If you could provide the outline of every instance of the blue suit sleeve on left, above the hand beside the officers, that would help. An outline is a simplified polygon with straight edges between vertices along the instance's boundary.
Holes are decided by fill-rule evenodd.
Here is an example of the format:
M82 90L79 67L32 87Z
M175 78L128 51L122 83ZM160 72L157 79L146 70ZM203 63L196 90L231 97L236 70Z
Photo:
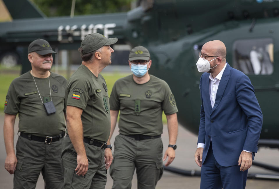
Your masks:
M202 76L200 77L200 85L199 85L200 100L202 101L202 105L200 106L200 127L199 127L198 143L205 143L205 111L203 109L203 99L202 99Z

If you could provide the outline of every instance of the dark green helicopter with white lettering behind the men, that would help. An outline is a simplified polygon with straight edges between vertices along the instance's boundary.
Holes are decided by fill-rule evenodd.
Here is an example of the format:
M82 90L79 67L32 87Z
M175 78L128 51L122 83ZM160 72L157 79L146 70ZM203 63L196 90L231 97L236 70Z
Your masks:
M0 57L15 57L25 72L27 46L34 39L46 39L54 49L77 49L92 32L118 37L118 44L143 45L152 57L150 73L170 85L179 123L195 134L201 104L198 52L205 42L221 40L227 62L255 88L264 116L259 145L279 148L278 0L140 0L127 13L74 18L46 18L29 0L17 7L3 1L14 20L0 23Z

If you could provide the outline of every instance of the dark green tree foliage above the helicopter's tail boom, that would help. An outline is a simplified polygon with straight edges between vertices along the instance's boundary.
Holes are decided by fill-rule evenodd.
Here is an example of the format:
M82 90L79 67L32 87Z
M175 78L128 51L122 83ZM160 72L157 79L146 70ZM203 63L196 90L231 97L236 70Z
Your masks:
M70 0L31 0L48 17L70 16ZM135 0L76 0L74 15L127 12Z

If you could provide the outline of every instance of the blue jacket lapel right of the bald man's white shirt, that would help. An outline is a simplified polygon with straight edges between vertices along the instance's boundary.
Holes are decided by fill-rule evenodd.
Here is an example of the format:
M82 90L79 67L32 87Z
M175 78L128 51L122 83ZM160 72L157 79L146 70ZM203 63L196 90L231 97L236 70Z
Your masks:
M231 70L231 67L230 65L227 63L227 66L223 72L223 75L222 75L222 78L220 80L220 83L218 85L218 90L217 90L217 93L216 93L216 99L215 99L215 104L214 104L214 107L212 108L211 110L211 114L212 112L217 108L217 106L219 105L220 101L221 101L221 98L224 94L224 91L227 87L227 84L228 84L228 81L230 79L230 70ZM210 101L210 99L209 99Z

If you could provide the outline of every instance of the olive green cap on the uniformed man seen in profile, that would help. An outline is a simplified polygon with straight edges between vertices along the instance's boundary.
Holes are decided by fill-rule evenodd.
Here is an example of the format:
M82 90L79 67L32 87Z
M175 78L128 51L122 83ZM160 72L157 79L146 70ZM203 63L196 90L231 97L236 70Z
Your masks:
M96 51L102 46L112 45L118 41L116 37L114 38L106 38L104 35L99 33L90 33L84 37L81 42L81 48L85 54Z

